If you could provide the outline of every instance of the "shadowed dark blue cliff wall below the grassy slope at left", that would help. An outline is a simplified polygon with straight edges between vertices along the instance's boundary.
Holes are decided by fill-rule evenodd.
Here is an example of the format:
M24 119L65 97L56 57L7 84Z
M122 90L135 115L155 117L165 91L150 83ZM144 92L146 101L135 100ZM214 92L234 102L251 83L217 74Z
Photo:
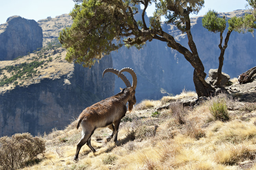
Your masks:
M102 79L104 69L112 67L111 56L91 69L69 65L66 74L40 74L33 78L41 79L38 83L17 86L0 95L0 136L62 129L83 109L113 95L114 75L106 74Z

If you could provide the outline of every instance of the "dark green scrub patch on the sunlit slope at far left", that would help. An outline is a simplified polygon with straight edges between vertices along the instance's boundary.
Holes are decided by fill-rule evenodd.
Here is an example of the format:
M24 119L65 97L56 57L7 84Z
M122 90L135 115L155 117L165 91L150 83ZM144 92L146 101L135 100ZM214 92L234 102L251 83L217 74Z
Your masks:
M5 75L4 77L0 80L0 86L4 86L6 84L13 83L19 78L22 78L23 76L26 78L32 77L37 71L34 70L34 68L38 68L44 63L44 61L38 62L38 61L33 61L31 63L21 63L16 66L6 66L1 70L7 70L8 72L13 73L12 77L7 78ZM17 84L16 84L17 85Z

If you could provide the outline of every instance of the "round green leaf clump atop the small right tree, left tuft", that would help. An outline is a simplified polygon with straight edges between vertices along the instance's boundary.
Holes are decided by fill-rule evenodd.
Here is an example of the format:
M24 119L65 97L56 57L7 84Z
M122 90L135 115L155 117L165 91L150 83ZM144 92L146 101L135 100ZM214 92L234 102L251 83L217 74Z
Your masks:
M218 17L217 12L209 10L202 19L203 27L208 31L217 33L226 29L226 17Z

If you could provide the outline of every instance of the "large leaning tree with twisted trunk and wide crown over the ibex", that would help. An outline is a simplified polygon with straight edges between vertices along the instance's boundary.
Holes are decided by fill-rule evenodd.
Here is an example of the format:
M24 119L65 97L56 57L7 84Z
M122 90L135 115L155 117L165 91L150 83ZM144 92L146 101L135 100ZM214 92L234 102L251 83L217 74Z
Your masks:
M60 43L67 48L68 62L91 67L96 60L124 45L140 49L146 41L157 39L183 54L194 67L193 81L199 97L208 97L215 92L215 87L204 80L206 73L190 31L189 14L197 14L203 7L204 0L74 1L79 3L70 12L73 24L59 34ZM156 4L156 11L150 17L150 23L146 23L145 11L153 2ZM142 20L136 20L134 15L139 15L136 6L140 4L144 5ZM172 23L187 34L189 49L162 30L161 16L166 18L166 24Z

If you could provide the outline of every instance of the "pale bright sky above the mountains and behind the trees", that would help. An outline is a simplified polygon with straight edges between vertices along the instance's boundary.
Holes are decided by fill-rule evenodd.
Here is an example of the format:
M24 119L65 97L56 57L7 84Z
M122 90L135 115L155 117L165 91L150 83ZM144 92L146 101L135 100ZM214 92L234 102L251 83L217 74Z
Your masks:
M217 12L231 12L245 9L245 0L204 0L204 6L198 16L204 15L209 9ZM5 23L7 18L19 15L26 19L38 21L47 17L56 17L68 14L73 6L72 0L1 0L0 24ZM152 16L154 5L147 8L147 15ZM195 15L192 15L195 16Z

